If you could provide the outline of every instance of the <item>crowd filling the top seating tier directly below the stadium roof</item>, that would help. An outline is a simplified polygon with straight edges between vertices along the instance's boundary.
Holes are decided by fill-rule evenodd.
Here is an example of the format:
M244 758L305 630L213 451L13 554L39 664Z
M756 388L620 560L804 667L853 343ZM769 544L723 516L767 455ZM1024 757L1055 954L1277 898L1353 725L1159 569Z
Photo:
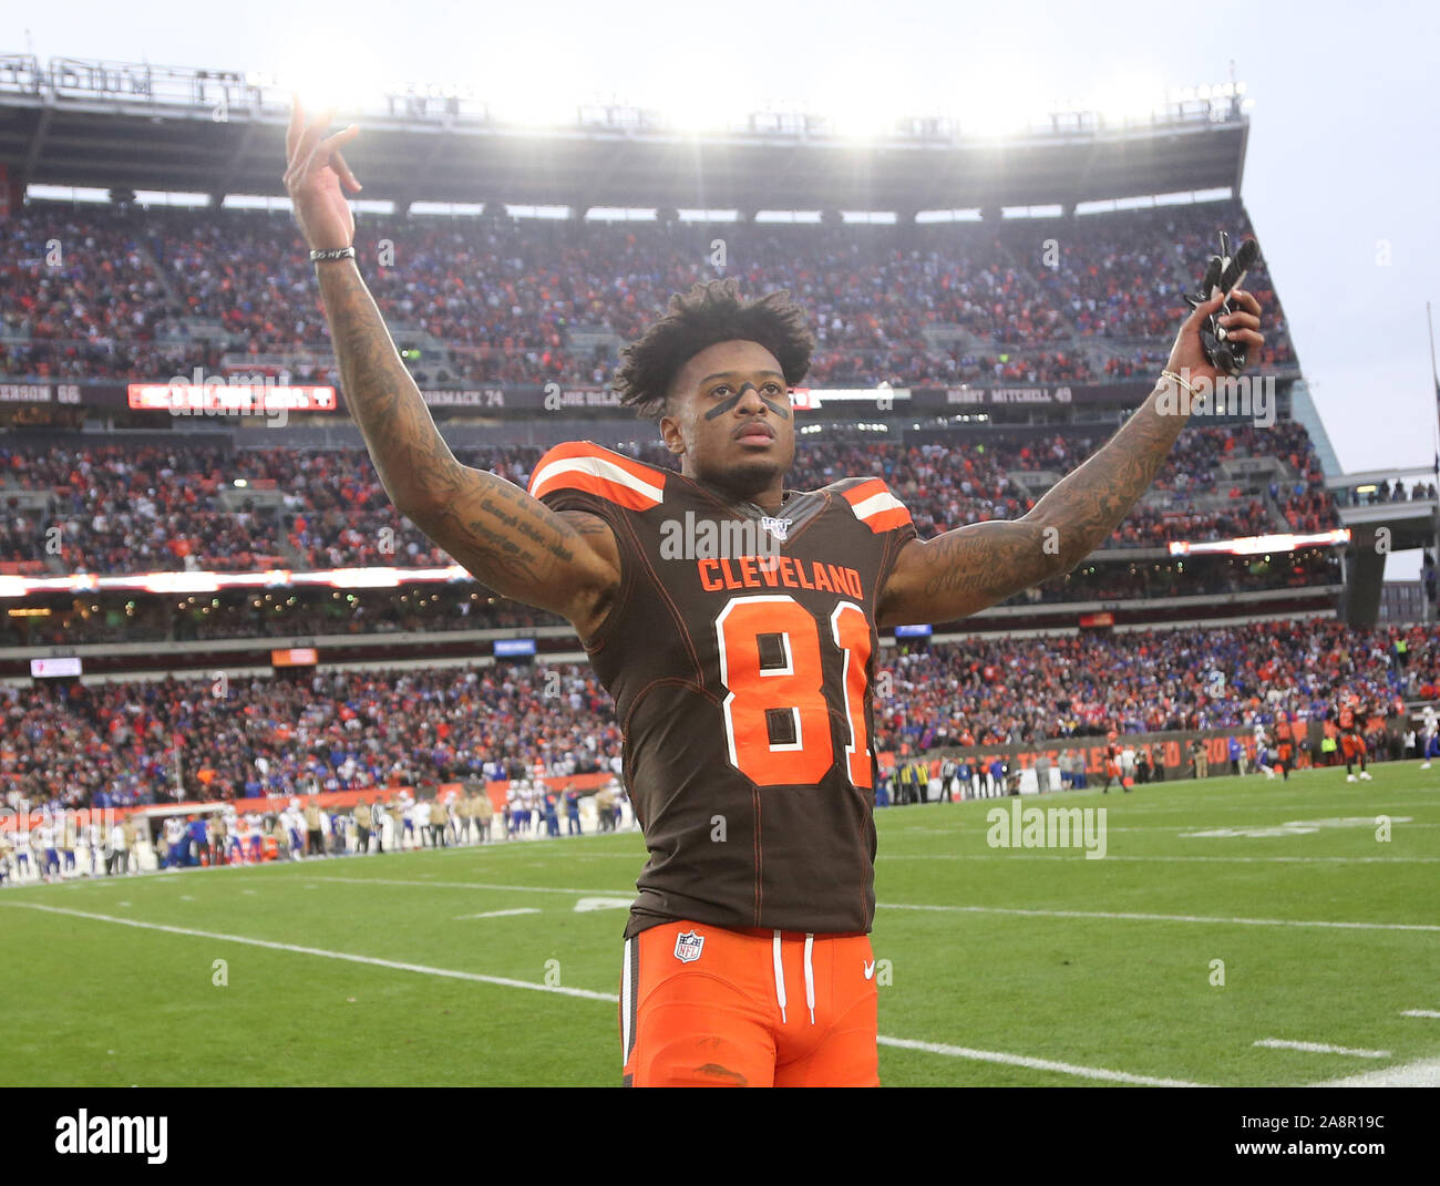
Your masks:
M1215 230L1248 226L1234 202L998 225L363 217L356 246L390 325L426 343L412 366L429 383L605 384L613 348L575 331L631 341L717 273L804 305L812 384L1077 383L1152 374ZM6 236L7 376L164 381L229 354L336 380L288 213L32 203ZM1247 286L1266 305L1257 368L1292 364L1263 262Z

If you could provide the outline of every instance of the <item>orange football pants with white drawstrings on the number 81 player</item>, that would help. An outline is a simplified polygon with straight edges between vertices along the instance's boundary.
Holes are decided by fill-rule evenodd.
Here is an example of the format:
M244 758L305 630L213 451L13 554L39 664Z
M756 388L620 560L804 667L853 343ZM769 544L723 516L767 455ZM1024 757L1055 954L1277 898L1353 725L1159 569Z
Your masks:
M664 923L625 940L625 1087L878 1087L865 934Z

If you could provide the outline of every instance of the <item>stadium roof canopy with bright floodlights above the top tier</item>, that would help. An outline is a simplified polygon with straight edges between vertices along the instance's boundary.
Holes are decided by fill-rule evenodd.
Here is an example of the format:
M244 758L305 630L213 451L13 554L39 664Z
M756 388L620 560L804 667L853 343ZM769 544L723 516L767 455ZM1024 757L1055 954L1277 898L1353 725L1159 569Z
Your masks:
M0 58L0 166L29 184L284 193L288 94L238 72ZM351 117L346 117L350 119ZM1143 122L1093 112L1002 140L913 119L857 142L814 117L752 117L704 135L631 108L579 108L521 128L445 96L390 95L347 160L367 199L739 210L1071 207L1230 189L1244 170L1238 98L1174 104Z

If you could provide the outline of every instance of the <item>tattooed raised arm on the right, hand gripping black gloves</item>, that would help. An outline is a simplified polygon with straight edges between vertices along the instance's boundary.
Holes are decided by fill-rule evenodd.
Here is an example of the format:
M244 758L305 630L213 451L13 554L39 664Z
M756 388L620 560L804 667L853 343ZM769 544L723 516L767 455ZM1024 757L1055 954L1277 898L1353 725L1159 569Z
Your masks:
M1234 295L1244 312L1221 320L1237 340L1259 348L1260 304L1240 289ZM1200 324L1221 299L1200 305L1175 338L1166 370L1192 386L1218 377L1201 350ZM881 590L877 623L953 622L1074 569L1109 538L1165 463L1189 419L1169 410L1176 391L1172 380L1161 380L1123 427L1024 518L906 544Z

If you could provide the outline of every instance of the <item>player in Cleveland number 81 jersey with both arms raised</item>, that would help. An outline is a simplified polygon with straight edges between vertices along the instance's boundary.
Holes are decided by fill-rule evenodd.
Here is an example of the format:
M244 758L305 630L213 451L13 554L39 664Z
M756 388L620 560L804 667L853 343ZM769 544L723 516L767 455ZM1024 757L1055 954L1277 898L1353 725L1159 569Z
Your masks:
M354 255L343 148L359 128L325 137L328 122L295 102L285 183L376 471L487 587L575 625L625 725L651 859L624 934L622 1081L877 1084L878 630L953 622L1074 569L1164 465L1181 387L1218 379L1205 318L1230 296L1228 340L1259 348L1259 302L1200 301L1149 399L1024 518L920 540L880 478L786 488L791 390L815 344L804 312L780 292L746 302L733 279L696 285L625 351L618 383L678 469L579 440L526 491L462 465L436 430Z

